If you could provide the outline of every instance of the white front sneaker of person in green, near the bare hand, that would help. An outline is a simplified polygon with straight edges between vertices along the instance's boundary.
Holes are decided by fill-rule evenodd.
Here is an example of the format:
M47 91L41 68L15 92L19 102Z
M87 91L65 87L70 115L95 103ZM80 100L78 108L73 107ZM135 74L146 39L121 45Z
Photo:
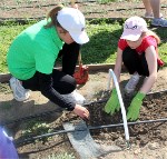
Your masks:
M68 98L69 100L73 100L78 105L84 105L86 99L84 98L84 96L81 96L79 92L77 92L76 90L72 91L71 93L68 95L62 95L65 98Z

